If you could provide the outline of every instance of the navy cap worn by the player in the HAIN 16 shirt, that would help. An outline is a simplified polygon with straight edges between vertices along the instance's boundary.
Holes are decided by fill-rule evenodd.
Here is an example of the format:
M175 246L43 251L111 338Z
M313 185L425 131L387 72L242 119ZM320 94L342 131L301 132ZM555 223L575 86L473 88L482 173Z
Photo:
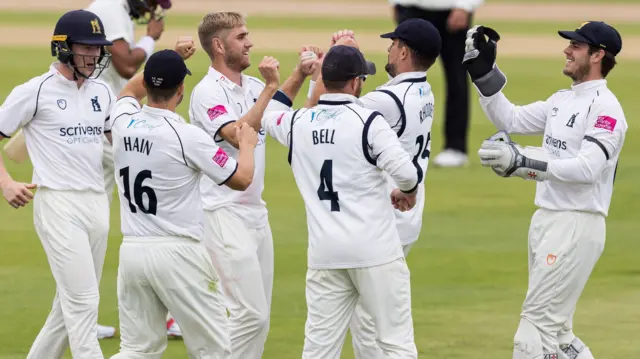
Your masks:
M178 87L191 71L174 50L160 50L149 57L144 67L144 82L158 89Z

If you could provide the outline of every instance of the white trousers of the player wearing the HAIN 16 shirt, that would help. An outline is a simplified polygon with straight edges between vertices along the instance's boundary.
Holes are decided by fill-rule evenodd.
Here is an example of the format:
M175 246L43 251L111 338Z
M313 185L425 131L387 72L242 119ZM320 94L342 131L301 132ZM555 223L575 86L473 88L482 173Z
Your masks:
M225 299L206 248L177 237L124 237L118 265L120 353L156 359L167 347L170 310L188 357L231 357Z

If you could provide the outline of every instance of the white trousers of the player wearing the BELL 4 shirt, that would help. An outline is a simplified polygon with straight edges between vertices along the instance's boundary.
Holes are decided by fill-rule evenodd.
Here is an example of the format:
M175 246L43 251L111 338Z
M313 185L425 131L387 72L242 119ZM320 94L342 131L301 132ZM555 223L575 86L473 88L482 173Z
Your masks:
M339 359L356 303L374 322L377 358L417 358L404 258L366 268L308 269L303 359Z

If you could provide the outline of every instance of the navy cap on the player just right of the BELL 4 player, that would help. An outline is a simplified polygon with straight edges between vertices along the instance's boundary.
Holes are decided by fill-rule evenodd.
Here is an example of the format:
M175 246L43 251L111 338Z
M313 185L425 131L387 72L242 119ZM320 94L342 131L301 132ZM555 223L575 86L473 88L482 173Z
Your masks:
M427 20L412 18L401 22L393 32L380 35L383 39L400 39L421 56L436 58L442 50L440 31Z

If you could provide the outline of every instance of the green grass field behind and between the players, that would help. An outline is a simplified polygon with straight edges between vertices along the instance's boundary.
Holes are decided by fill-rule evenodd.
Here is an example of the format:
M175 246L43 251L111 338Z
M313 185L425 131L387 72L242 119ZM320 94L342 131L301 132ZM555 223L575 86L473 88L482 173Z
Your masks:
M302 25L302 24L301 24ZM553 33L563 24L553 24ZM342 26L341 26L342 27ZM374 56L382 68L386 56ZM0 99L11 89L47 71L53 58L48 45L40 48L2 48ZM500 59L509 77L505 90L516 103L544 99L569 86L561 74L564 59ZM254 64L265 54L253 53ZM273 55L273 54L269 54ZM290 69L295 54L276 54L281 68ZM198 53L189 61L194 76L189 89L207 70ZM621 101L630 128L620 158L603 257L578 304L575 331L598 358L640 358L640 242L637 240L640 190L640 111L635 93L640 62L624 61L609 78ZM250 74L257 74L252 67ZM285 71L283 77L288 75ZM434 86L436 121L432 153L442 146L443 81L440 64L429 79ZM383 83L378 74L367 90ZM189 90L190 91L190 90ZM306 86L296 104L303 102ZM476 151L495 132L472 94L473 120L469 138L471 163L464 169L431 167L426 176L427 202L420 240L408 262L412 271L415 339L422 358L510 358L512 338L527 288L527 230L535 211L535 184L503 179L479 165ZM186 104L179 112L186 116ZM522 144L540 143L539 137L516 137ZM264 358L300 357L306 305L306 222L301 197L286 161L286 149L269 141L264 198L270 211L275 246L272 321ZM30 165L8 163L16 180L30 181ZM118 201L115 200L115 204ZM101 284L100 323L117 325L116 271L121 241L119 211L112 209L111 235ZM50 310L55 284L33 229L32 206L14 210L0 203L0 359L24 358ZM119 339L101 342L106 357L117 352ZM67 358L71 356L68 355ZM171 341L165 358L184 358L182 341ZM343 358L353 358L350 342Z

